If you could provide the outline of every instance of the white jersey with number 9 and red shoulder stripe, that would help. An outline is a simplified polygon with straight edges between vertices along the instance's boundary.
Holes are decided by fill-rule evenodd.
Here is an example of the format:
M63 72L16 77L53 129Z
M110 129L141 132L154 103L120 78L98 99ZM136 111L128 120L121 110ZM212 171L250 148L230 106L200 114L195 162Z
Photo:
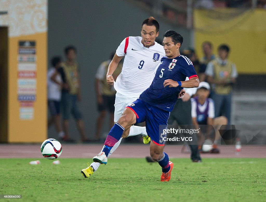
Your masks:
M125 56L122 72L114 82L115 90L127 97L139 97L154 78L154 71L165 55L163 46L155 42L149 48L141 43L142 37L127 37L116 50Z

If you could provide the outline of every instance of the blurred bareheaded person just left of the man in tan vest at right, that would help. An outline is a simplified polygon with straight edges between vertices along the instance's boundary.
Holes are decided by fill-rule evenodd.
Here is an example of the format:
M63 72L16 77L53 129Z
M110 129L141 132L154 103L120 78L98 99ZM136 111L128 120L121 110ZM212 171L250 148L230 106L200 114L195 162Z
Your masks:
M213 44L209 41L205 41L202 43L202 52L204 56L200 59L200 70L201 72L205 72L207 64L216 58L213 54ZM199 76L200 82L206 80L206 74L203 73Z

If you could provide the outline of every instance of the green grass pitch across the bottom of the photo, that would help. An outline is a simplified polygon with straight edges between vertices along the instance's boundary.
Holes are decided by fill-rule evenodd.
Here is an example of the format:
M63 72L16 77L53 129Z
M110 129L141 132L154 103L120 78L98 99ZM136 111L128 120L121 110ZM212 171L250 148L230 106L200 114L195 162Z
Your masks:
M86 159L59 160L0 159L0 194L22 194L0 201L266 201L265 159L171 159L169 182L145 159L110 158L90 178L80 173Z

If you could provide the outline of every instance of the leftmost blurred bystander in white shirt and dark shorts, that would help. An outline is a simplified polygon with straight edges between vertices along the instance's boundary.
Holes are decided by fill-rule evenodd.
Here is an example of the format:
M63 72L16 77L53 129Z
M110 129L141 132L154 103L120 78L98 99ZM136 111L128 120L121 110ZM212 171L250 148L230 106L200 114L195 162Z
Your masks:
M47 73L47 98L48 108L51 113L51 118L48 120L48 127L55 124L59 138L64 137L64 132L61 125L60 101L61 88L63 81L60 73L57 71L60 68L61 57L56 56L51 60L52 68Z

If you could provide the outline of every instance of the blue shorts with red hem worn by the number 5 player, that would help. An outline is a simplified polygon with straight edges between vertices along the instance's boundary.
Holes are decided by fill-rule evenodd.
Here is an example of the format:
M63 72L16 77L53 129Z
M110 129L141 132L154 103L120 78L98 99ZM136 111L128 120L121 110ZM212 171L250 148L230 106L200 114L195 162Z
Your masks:
M126 108L131 109L136 114L136 123L146 121L148 136L151 137L151 140L156 145L163 146L165 143L164 137L166 137L166 134L163 134L163 129L167 127L170 112L150 105L140 99L126 106Z

